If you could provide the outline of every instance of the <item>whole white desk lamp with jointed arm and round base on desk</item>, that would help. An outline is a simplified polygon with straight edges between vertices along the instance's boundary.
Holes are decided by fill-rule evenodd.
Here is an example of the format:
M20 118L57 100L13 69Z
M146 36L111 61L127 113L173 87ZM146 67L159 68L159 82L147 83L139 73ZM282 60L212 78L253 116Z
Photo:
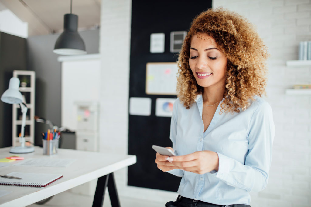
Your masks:
M11 153L22 154L34 152L35 148L33 146L25 146L25 122L26 122L26 113L27 106L23 103L23 97L19 91L20 80L18 78L11 78L9 83L9 89L7 89L1 96L1 101L9 104L19 104L21 107L21 112L23 114L21 121L21 136L19 137L19 142L21 146L13 146L10 149Z

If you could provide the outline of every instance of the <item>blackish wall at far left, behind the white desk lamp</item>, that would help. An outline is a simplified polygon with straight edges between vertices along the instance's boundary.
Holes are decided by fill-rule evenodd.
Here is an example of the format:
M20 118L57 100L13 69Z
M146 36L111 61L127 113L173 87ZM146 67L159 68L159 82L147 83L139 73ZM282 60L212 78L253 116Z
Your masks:
M0 32L0 96L9 87L13 70L26 69L26 39ZM0 147L12 146L12 104L0 101Z

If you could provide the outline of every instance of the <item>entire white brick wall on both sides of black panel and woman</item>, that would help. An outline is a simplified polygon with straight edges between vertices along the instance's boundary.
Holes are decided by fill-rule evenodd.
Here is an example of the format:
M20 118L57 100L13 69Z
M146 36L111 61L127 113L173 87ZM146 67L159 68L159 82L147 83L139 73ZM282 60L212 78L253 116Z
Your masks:
M252 207L311 206L311 96L285 95L297 83L311 83L311 67L290 68L299 41L311 40L310 0L213 0L255 24L272 54L267 101L276 126L267 188L251 192ZM205 8L202 8L202 10ZM100 151L128 151L128 90L131 0L102 0ZM126 187L127 171L116 173L121 196L166 201L176 194ZM143 181L142 181L143 182Z

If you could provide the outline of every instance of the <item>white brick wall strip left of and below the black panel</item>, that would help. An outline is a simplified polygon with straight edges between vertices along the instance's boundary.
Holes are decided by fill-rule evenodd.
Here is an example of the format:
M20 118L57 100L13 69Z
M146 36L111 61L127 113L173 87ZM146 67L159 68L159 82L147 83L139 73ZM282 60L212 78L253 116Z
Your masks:
M100 152L128 153L131 9L131 0L101 2ZM115 178L120 196L162 203L177 197L173 192L128 187L127 169L116 172Z

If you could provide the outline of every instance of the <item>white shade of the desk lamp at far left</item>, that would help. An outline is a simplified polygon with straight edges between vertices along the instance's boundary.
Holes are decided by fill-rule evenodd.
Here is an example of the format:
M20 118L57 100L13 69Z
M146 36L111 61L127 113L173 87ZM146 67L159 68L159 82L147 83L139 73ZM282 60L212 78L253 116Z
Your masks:
M19 91L20 80L16 77L10 79L9 89L1 96L1 101L9 104L19 104L23 102L23 97Z

